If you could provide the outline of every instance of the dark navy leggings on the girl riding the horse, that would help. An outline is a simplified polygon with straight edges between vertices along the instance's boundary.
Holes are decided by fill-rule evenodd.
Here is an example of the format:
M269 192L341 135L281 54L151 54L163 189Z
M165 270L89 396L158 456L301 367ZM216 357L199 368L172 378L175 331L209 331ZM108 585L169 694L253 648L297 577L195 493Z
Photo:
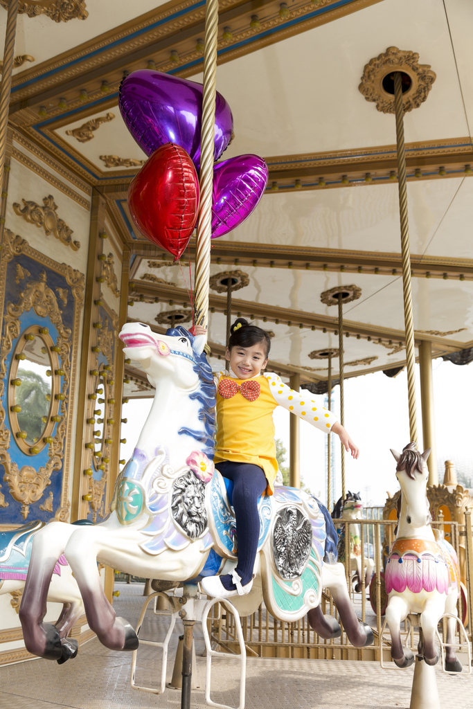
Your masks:
M258 498L267 488L267 480L259 465L225 460L217 463L216 468L224 478L233 480L233 509L238 537L238 564L235 571L241 576L242 586L245 586L252 579L255 566L260 538Z

